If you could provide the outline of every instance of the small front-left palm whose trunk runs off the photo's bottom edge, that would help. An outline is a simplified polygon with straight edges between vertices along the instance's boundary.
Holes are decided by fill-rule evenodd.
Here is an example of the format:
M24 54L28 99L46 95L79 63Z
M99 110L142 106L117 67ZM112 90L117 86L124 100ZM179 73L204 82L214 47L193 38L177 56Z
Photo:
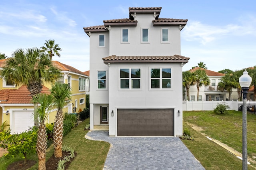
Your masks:
M53 97L45 93L40 93L32 97L32 102L40 105L37 108L39 117L39 127L37 132L36 152L38 155L38 170L46 170L46 147L47 134L44 122L48 117Z

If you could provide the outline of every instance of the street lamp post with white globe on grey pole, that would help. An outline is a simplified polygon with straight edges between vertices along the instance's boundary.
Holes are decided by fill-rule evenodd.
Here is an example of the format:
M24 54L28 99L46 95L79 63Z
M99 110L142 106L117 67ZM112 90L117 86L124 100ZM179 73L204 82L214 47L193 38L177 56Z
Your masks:
M249 90L249 87L252 82L252 77L248 75L248 72L245 70L243 75L239 77L239 84L242 87L243 93L243 170L247 170L247 107L246 107L246 96Z

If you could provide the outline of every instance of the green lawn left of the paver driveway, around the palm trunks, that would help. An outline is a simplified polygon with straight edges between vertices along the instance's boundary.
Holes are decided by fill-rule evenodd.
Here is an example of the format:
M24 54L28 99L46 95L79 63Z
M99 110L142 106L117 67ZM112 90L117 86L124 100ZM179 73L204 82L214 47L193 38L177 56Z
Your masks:
M102 170L104 167L110 144L104 141L87 140L84 138L89 131L84 130L85 125L88 123L89 119L86 119L63 138L62 144L71 146L77 153L77 156L68 168L69 170ZM53 153L54 148L51 145L46 150L46 159L50 158ZM38 162L37 154L30 154L28 159ZM4 157L1 157L0 170L6 170L9 164L18 160L22 160L22 158L4 159ZM36 169L38 169L38 163L30 168L30 170Z

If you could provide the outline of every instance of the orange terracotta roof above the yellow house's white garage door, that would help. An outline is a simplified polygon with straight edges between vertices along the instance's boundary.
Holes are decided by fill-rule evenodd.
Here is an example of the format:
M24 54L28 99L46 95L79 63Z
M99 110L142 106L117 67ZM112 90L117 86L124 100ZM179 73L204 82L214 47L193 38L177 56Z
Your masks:
M42 93L50 94L50 89L43 86ZM31 95L25 85L22 85L19 89L4 89L0 91L0 101L8 104L20 104L20 103L31 103Z

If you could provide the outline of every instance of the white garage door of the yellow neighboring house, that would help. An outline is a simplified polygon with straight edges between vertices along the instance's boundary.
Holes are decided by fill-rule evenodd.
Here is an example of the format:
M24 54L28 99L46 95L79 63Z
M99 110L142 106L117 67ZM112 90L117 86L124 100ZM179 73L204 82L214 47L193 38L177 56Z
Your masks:
M14 111L14 133L24 132L34 126L33 111Z

